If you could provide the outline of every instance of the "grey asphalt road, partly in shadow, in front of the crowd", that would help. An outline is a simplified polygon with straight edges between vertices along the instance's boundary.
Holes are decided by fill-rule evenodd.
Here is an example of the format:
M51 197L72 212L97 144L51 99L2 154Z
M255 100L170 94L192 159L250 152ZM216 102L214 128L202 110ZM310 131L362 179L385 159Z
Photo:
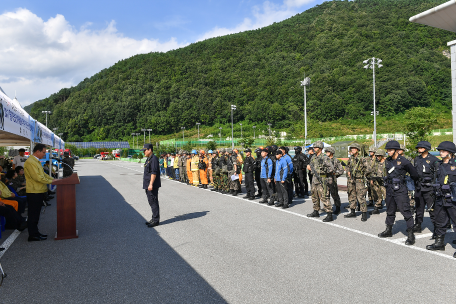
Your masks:
M425 250L426 229L405 246L380 239L385 214L309 219L310 198L289 209L162 179L161 224L151 217L142 165L80 160L79 238L27 242L1 257L1 303L453 303L456 259ZM347 197L341 192L342 203ZM55 201L40 230L56 231ZM429 219L426 225L430 227ZM7 235L6 235L7 236ZM5 240L5 236L2 241Z

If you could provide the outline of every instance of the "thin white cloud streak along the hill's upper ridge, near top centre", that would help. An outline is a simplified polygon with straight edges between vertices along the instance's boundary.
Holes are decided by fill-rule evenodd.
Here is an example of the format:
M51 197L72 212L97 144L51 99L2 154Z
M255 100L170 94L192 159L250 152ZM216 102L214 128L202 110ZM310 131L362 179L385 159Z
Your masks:
M282 20L290 18L293 15L296 15L299 12L296 10L296 8L311 2L315 2L315 0L284 0L283 5L277 5L269 1L265 1L261 6L254 6L252 8L252 19L245 18L240 24L236 25L233 28L215 27L212 30L201 35L198 41L228 34L255 30L271 25L274 22L280 22Z

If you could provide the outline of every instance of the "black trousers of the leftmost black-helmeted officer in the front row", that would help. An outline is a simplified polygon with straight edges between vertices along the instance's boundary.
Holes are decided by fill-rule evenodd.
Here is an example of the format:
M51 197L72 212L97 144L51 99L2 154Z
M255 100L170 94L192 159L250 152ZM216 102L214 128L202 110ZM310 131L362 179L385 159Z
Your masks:
M390 185L386 187L386 221L387 225L393 226L396 220L396 210L399 209L407 228L413 228L413 215L410 211L410 201L408 198L407 188L402 185L396 192Z

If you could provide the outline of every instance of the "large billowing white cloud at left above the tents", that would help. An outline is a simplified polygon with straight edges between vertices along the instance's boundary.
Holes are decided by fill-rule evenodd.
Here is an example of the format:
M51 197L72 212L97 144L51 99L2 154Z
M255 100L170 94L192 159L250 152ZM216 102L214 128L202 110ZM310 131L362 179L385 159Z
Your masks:
M24 106L120 59L186 45L174 38L159 42L124 37L115 22L99 31L89 26L77 30L62 15L44 21L27 9L0 15L0 86L10 97L17 91Z

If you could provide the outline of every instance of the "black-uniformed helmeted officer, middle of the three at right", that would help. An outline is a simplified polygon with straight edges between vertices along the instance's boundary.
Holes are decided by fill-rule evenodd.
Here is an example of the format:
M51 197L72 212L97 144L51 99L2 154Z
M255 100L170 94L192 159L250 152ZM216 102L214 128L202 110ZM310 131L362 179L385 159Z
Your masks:
M434 183L435 170L439 159L434 155L429 154L429 150L431 150L430 142L420 141L415 148L418 149L418 153L420 153L420 155L415 158L415 168L420 179L415 185L416 216L413 231L421 233L421 223L424 218L425 206L427 205L427 207L430 208L435 200L432 184ZM435 230L434 213L430 211L429 216Z

